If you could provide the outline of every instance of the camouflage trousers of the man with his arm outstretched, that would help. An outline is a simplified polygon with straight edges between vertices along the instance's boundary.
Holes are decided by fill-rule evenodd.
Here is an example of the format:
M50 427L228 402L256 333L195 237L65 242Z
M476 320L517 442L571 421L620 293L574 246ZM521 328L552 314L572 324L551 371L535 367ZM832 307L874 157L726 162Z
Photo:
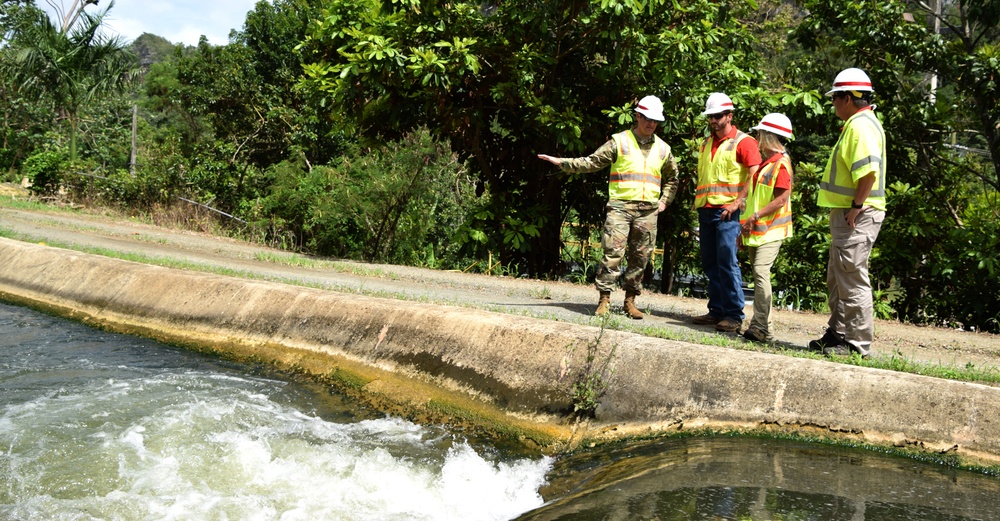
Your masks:
M642 293L642 274L656 243L657 203L608 201L607 218L601 234L604 257L597 270L598 291L614 291L625 259L625 291Z

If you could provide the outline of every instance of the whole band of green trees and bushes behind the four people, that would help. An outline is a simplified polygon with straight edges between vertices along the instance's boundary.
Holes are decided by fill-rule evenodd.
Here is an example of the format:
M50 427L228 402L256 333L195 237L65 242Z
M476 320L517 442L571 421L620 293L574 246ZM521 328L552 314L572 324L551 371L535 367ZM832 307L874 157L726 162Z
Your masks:
M61 30L34 2L0 4L8 180L129 212L200 205L312 253L583 281L606 178L536 155L590 153L655 94L682 179L653 271L677 292L700 275L700 112L724 91L740 128L794 123L796 236L774 273L804 309L826 297L815 191L840 121L822 92L863 68L890 136L877 310L1000 330L996 1L273 0L228 45L143 35L128 53L100 29L108 9Z

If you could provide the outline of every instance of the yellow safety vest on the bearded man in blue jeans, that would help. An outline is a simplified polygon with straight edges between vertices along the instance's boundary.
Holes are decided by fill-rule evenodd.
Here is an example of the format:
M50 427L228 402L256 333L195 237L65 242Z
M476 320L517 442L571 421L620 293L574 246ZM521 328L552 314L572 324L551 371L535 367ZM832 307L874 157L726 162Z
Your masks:
M750 136L736 131L736 137L719 143L712 158L712 136L701 144L698 156L698 188L695 189L694 207L721 206L732 203L740 193L740 184L749 170L736 162L736 148L740 141Z

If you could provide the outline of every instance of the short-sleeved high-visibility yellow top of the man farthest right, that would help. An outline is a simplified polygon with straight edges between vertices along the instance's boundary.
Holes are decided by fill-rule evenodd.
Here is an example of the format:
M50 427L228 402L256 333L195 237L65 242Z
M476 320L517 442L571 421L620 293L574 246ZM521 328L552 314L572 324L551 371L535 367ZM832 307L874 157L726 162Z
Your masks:
M854 114L844 124L826 162L816 203L826 208L850 208L858 188L854 175L874 168L875 184L862 204L885 211L885 157L885 131L875 113L862 110Z

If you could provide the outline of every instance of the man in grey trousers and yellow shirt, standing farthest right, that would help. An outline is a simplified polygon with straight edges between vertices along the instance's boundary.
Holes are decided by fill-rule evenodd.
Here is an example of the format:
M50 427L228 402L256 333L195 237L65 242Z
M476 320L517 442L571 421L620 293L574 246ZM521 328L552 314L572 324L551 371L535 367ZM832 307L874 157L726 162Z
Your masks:
M860 69L845 69L827 96L844 121L820 183L817 204L830 209L827 285L830 320L809 348L827 355L867 358L875 336L868 258L885 219L886 143L875 117L874 89Z

